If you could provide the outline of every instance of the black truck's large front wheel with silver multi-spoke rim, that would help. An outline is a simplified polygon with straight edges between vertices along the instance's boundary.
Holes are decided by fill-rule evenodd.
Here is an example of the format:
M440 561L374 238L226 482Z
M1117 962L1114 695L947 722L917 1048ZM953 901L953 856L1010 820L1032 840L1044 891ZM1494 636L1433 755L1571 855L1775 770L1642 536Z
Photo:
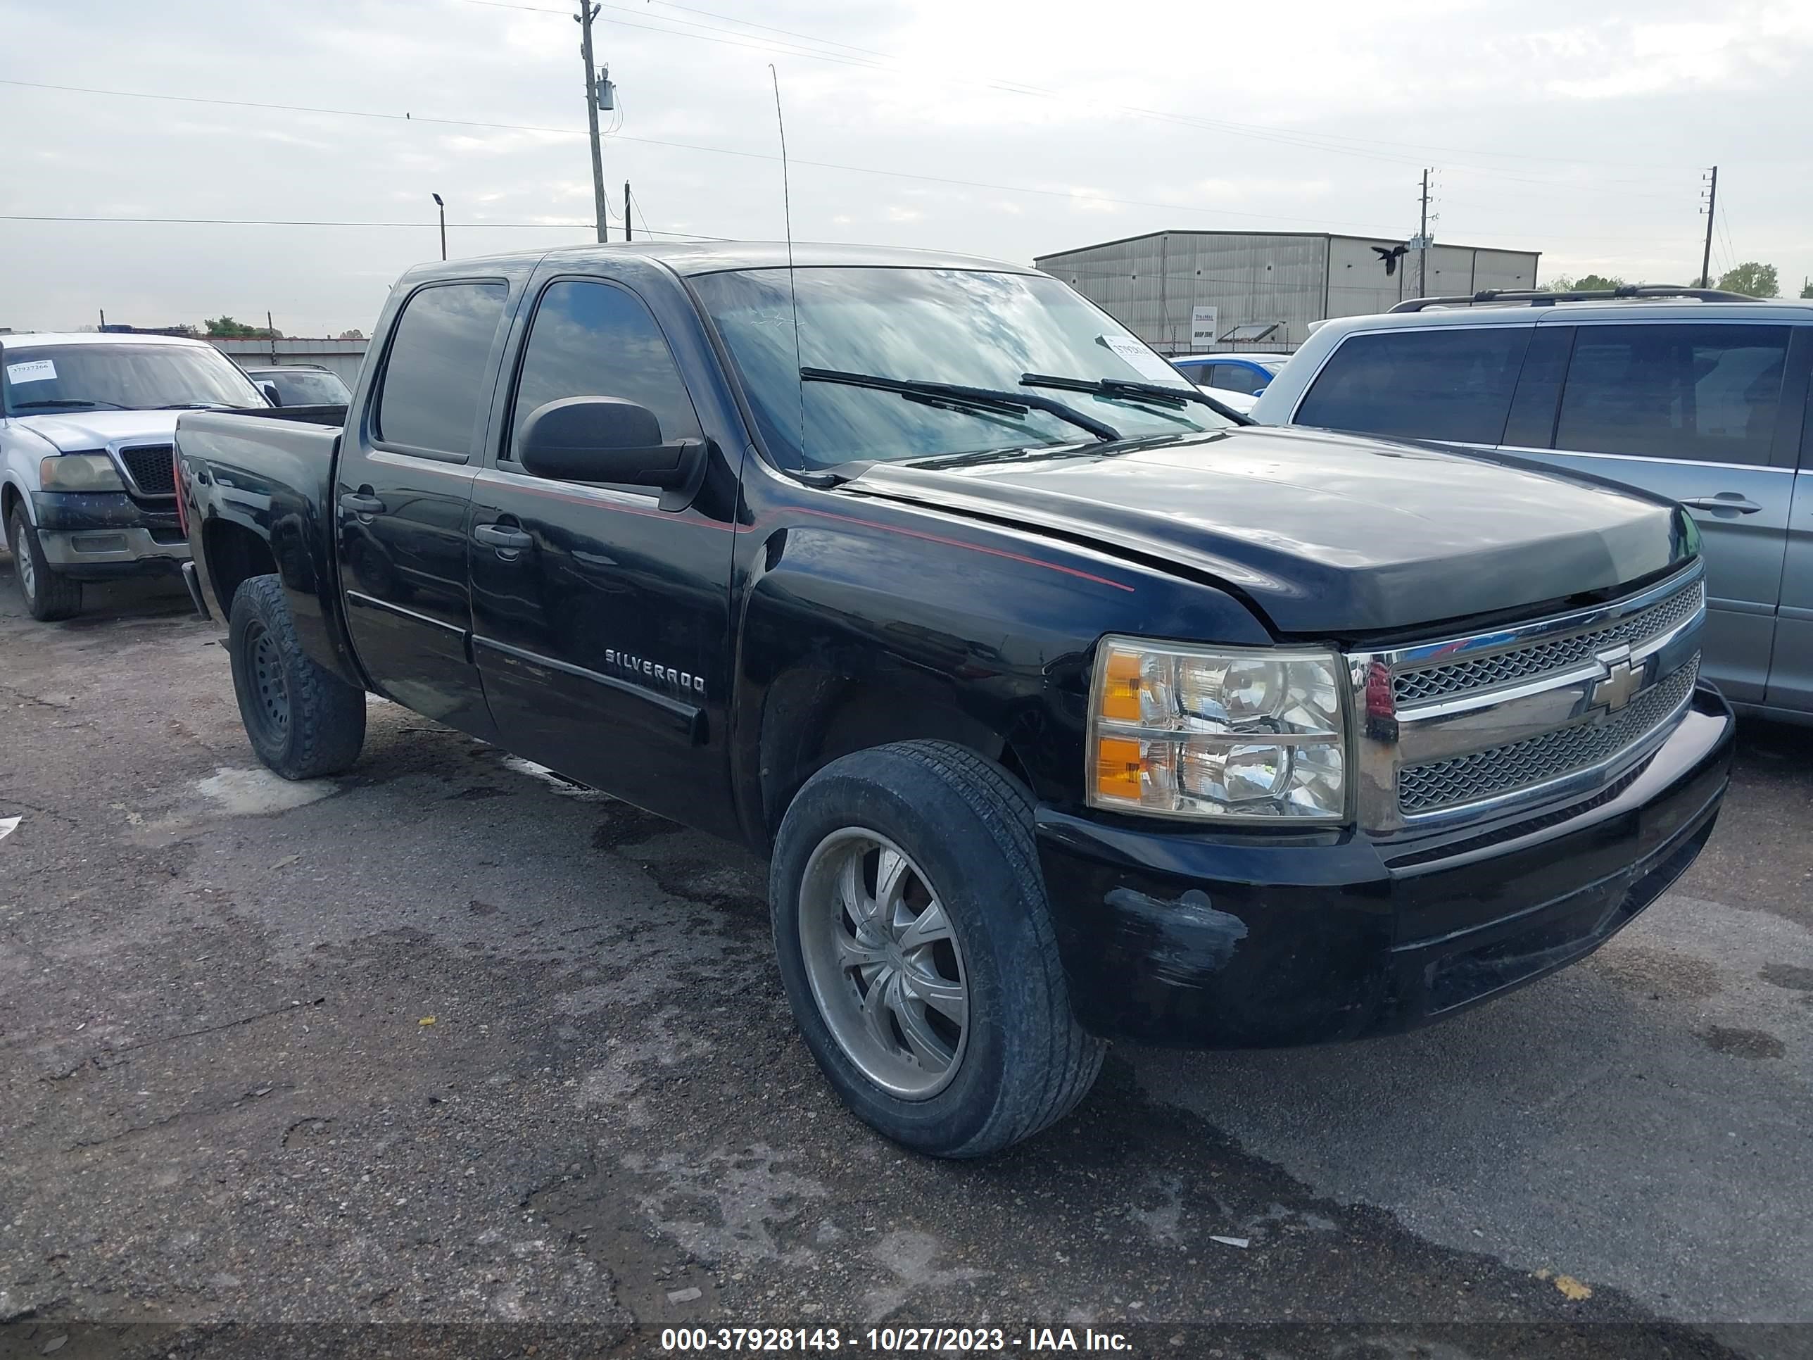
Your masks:
M769 899L807 1048L896 1142L983 1157L1095 1084L1108 1044L1071 1012L1032 803L994 762L946 742L832 762L781 820Z

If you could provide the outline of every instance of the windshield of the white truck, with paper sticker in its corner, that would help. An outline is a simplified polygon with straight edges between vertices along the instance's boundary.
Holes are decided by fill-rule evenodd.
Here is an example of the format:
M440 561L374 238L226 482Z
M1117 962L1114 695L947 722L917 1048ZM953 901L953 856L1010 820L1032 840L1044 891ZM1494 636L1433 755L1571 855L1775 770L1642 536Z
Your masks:
M207 345L27 345L0 350L7 415L160 406L265 406Z

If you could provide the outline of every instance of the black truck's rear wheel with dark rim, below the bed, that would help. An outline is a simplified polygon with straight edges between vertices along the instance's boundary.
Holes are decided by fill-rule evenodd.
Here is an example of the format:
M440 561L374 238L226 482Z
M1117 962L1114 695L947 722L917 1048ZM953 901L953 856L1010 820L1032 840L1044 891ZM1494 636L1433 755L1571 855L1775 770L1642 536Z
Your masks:
M270 769L315 780L359 758L364 691L308 658L277 577L250 577L234 593L227 651L239 720Z

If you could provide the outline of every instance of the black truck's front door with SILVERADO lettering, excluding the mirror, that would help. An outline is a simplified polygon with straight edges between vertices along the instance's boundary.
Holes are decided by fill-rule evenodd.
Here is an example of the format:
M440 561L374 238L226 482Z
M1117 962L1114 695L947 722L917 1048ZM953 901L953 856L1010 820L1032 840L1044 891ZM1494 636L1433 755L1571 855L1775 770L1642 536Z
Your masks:
M729 506L662 510L642 490L522 471L515 441L529 413L589 395L647 406L662 439L703 437L642 297L596 277L548 283L495 466L473 488L473 655L506 747L705 825L702 809L727 818L731 803L702 782L729 778L734 526ZM723 455L713 444L709 457ZM722 484L718 473L707 481Z

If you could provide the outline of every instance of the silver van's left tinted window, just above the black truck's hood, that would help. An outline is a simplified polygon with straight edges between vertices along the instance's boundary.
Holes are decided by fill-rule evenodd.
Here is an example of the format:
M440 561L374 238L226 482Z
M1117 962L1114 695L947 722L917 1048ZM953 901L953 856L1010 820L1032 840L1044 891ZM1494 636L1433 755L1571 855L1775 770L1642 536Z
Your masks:
M1496 444L1530 326L1441 326L1342 341L1296 424Z

